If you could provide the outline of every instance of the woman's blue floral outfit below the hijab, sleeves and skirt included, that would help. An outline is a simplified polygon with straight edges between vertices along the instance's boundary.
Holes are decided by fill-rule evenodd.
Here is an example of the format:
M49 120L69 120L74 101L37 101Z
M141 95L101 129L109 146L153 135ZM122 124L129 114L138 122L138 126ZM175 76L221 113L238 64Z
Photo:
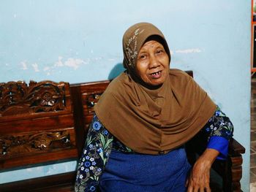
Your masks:
M207 147L218 150L218 158L225 159L228 141L233 136L233 124L219 107L201 131L208 139ZM148 164L145 164L145 161L148 161ZM171 161L175 166L171 164ZM180 163L181 167L176 166L176 162L183 161L184 163ZM165 169L162 169L162 164L166 164L166 162L170 166L165 166ZM124 169L128 171L126 170L126 172ZM78 164L75 191L97 191L99 185L101 185L101 191L106 191L106 188L112 188L108 191L185 191L184 185L180 186L181 190L176 185L177 180L173 180L173 178L178 178L182 180L181 183L184 183L189 169L183 147L165 155L135 153L118 141L116 137L113 137L100 123L97 115L94 115ZM165 172L173 177L167 176L168 180L164 180ZM143 180L145 175L147 177ZM163 183L167 183L167 185L165 186ZM162 189L159 189L159 186L162 186ZM176 189L173 189L174 187Z

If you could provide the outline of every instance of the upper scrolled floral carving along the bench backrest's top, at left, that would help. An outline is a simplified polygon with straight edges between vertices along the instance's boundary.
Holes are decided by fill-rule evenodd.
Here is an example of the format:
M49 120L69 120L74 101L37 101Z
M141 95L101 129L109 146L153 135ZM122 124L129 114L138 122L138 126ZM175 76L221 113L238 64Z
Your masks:
M64 110L64 82L0 83L0 116Z

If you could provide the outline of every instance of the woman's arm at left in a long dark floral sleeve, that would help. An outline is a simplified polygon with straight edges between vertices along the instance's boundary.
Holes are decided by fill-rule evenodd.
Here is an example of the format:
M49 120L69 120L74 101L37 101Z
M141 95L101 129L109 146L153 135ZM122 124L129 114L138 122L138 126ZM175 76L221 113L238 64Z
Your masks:
M105 169L113 142L113 135L102 126L96 115L89 127L86 144L78 164L75 191L96 191L99 177Z

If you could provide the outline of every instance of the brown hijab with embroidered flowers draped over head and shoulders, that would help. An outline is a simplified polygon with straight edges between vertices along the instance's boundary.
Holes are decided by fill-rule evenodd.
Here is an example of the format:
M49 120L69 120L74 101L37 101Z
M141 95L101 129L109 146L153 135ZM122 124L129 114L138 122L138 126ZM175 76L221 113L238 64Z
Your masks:
M149 89L136 80L135 65L143 43L165 37L150 23L128 28L123 38L126 72L110 82L94 107L97 117L116 138L138 153L159 154L183 145L214 114L216 105L185 72L170 69L160 88Z

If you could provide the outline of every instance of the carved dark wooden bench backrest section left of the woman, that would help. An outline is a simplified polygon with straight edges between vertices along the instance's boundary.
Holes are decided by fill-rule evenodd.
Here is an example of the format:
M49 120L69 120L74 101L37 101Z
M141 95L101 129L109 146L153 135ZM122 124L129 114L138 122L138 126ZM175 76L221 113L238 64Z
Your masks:
M0 169L77 156L69 83L0 83Z

